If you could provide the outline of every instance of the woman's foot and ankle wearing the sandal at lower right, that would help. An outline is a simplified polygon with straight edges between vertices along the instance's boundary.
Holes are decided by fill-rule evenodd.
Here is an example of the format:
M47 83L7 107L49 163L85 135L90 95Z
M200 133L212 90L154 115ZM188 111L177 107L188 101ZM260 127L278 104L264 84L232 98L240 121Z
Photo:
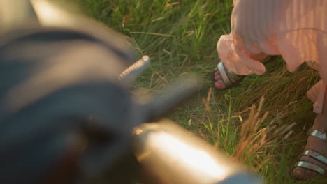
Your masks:
M324 106L326 107L326 106ZM303 156L300 158L300 161L297 162L296 166L302 166L302 167L296 167L293 169L293 176L298 180L305 180L305 179L311 179L319 176L320 174L317 171L313 171L311 169L307 169L303 167L303 165L307 167L311 167L314 170L319 169L320 171L324 171L327 169L327 144L324 139L319 139L318 137L312 136L312 135L319 135L319 132L325 133L325 135L320 135L321 138L326 137L326 130L327 130L327 116L326 114L319 114L317 118L314 120L314 125L312 126L311 135L307 139L307 145L305 146L305 152L306 154L303 154ZM318 130L319 132L314 132L312 130ZM312 156L309 156L309 155ZM320 159L317 159L317 156L314 156L314 154L317 154ZM316 157L316 158L314 158ZM320 161L319 161L320 160ZM302 161L302 162L301 162ZM305 161L305 162L303 162ZM317 167L318 166L318 167ZM326 171L325 171L326 172Z

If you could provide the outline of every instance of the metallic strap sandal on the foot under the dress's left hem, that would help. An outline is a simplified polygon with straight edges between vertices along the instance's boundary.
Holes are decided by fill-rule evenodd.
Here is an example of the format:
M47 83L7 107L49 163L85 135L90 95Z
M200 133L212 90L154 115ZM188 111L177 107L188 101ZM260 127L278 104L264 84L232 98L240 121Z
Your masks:
M242 79L244 79L245 76L242 75L237 75L234 72L232 72L231 70L228 70L228 68L226 68L224 66L224 63L219 62L217 65L219 74L221 76L221 80L222 82L224 82L226 89L230 89L231 87L235 86L236 84L239 84ZM215 72L212 73L212 77L213 77L213 82L215 85Z

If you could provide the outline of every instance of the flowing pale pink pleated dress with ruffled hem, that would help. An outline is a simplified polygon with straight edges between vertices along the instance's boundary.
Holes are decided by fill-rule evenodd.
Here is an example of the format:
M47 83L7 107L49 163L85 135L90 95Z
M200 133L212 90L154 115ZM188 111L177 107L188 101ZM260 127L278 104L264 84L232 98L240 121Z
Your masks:
M231 33L218 41L225 66L238 75L266 71L254 54L282 55L295 72L306 62L319 70L321 81L308 97L320 113L327 84L327 0L234 0Z

